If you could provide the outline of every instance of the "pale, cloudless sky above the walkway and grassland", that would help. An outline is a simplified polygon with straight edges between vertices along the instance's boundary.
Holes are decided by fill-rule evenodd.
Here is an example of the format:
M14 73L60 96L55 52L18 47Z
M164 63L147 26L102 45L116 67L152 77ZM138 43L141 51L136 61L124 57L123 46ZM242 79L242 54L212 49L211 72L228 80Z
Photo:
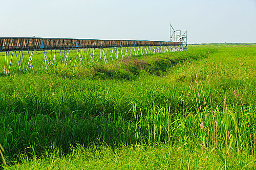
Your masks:
M0 0L0 37L256 43L256 0Z

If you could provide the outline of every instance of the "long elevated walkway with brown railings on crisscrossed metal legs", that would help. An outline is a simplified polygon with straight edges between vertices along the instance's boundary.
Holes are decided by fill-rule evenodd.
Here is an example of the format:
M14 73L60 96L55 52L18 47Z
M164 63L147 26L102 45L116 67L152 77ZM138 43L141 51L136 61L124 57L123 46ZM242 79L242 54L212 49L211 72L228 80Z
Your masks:
M186 46L187 47L187 46ZM96 54L96 49L99 51ZM175 41L135 41L135 40L93 40L64 38L0 38L0 52L5 52L4 73L10 72L13 55L15 54L20 71L34 70L33 52L43 51L43 67L55 63L59 53L60 63L64 66L70 63L75 67L77 62L83 65L85 61L93 62L96 55L99 62L107 63L107 52L110 52L111 62L119 57L138 56L170 51L183 51L183 42ZM70 50L77 50L76 58L72 60ZM29 60L24 65L23 52L27 51ZM120 56L121 55L121 56ZM52 58L53 56L53 58ZM48 58L50 57L50 60ZM9 59L10 58L10 59Z

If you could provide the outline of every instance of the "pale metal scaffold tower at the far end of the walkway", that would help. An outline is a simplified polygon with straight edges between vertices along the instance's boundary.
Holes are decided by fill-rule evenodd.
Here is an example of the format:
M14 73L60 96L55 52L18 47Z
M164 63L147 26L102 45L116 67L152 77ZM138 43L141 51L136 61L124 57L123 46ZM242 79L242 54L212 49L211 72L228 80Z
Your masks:
M187 48L187 30L175 30L170 24L170 40L171 42L181 42L182 50L188 50Z

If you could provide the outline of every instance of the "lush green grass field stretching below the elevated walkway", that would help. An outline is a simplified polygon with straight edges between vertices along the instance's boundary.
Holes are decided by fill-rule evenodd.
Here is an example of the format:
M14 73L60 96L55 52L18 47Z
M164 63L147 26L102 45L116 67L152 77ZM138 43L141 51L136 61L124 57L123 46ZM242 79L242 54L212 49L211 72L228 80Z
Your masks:
M3 169L256 169L256 47L47 70L36 53L0 75Z

